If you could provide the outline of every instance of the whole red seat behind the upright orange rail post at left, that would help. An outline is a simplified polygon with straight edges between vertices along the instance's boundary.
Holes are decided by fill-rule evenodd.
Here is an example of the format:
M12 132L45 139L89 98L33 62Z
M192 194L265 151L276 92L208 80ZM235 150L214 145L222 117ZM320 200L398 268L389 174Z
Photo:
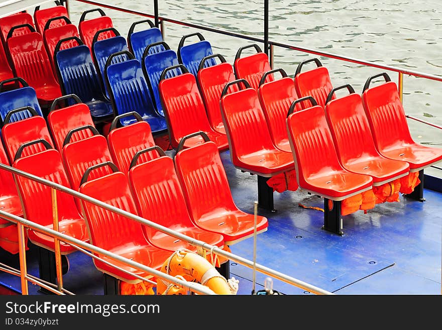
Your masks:
M19 158L14 162L14 167L70 188L60 153L55 149ZM22 176L17 176L17 185L23 199L25 217L30 221L53 229L51 188ZM88 242L86 224L78 213L74 198L61 191L56 193L60 233ZM28 230L28 236L32 243L54 251L53 238L33 230ZM77 251L63 242L60 242L60 250L62 254Z

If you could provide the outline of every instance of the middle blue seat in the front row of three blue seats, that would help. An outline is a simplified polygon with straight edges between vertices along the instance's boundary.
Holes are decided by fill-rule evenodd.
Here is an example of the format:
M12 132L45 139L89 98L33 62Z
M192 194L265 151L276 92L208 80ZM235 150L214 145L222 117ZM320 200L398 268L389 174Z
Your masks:
M157 53L150 53L152 48L157 48L157 46L163 47L165 50ZM161 104L160 92L158 90L158 84L160 82L161 73L165 69L171 66L178 65L178 57L175 51L171 50L170 47L164 42L160 41L157 43L150 44L146 47L143 60L141 61L144 75L146 76L146 80L151 91L151 95L153 95L155 107L159 115L164 117L163 106ZM172 70L168 70L166 73L166 78L171 78L181 74L181 69L176 68Z

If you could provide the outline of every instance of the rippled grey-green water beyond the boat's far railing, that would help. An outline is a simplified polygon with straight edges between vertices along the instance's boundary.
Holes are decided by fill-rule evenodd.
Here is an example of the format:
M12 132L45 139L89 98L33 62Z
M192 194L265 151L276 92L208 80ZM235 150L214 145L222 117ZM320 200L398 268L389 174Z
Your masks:
M108 4L153 13L153 2L108 0ZM71 2L71 18L92 8ZM105 9L123 36L138 16ZM160 1L160 16L263 36L263 1ZM440 0L275 0L270 1L270 39L303 48L442 75L442 2ZM177 49L181 36L197 30L166 24L166 42ZM233 63L239 47L250 42L202 31L214 52ZM262 45L260 45L262 47ZM275 48L275 68L293 76L297 64L314 55ZM362 91L379 69L320 57L335 86L351 84ZM388 72L393 81L398 75ZM404 107L408 115L442 126L442 82L404 77ZM442 130L409 120L417 142L442 144Z

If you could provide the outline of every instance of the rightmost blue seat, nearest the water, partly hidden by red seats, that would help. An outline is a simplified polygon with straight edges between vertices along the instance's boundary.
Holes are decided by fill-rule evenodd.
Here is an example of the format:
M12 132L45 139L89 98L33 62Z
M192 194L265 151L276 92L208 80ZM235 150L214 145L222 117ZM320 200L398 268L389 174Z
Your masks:
M197 36L199 41L184 46L185 40L193 36ZM199 32L191 33L181 38L178 45L178 62L183 64L195 78L198 73L199 63L201 63L204 57L209 55L213 55L212 47L207 40L204 40L204 37ZM206 68L215 64L215 59L211 58L204 63L204 67Z

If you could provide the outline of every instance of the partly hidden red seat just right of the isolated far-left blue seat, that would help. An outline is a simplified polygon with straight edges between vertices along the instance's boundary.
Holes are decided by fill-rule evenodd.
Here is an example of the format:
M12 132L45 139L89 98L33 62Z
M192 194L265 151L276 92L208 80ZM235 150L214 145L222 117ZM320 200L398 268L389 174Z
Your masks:
M63 151L67 135L72 130L76 131L72 131L66 143L76 142L98 134L97 131L93 130L95 126L90 116L89 107L86 104L80 102L59 109L52 109L57 104L57 100L61 101L74 96L70 94L54 100L55 104L52 104L48 115L48 127L54 139L55 148L60 152Z

